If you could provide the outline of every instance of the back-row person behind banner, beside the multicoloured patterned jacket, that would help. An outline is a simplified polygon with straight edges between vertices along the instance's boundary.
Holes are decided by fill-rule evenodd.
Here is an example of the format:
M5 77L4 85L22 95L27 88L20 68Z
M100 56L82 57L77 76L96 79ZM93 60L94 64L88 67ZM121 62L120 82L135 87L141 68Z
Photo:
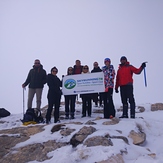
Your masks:
M91 71L91 73L96 73L96 72L101 72L101 71L102 70L98 66L98 62L94 62L93 70ZM102 93L93 93L92 96L93 96L93 102L95 103L95 107L98 107L98 101L99 101L100 107L102 107Z

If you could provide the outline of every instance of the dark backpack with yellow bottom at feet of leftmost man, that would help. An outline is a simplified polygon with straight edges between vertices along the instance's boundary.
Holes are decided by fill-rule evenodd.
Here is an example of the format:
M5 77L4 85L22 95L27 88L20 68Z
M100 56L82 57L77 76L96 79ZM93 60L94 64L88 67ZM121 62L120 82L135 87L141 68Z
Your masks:
M24 114L23 119L21 120L24 125L43 123L44 119L41 115L41 111L34 108L27 109Z

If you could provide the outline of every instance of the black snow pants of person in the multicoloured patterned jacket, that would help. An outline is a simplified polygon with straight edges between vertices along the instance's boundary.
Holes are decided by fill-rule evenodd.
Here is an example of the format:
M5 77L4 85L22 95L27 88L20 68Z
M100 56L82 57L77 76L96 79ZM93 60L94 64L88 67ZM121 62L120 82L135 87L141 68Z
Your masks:
M109 88L108 92L103 93L104 100L104 118L115 117L115 107L113 103L113 88Z

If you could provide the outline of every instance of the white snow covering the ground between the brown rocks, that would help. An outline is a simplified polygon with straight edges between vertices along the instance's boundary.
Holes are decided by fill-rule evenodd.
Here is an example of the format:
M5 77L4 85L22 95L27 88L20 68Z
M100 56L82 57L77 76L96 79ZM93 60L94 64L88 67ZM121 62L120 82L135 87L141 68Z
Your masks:
M106 160L109 157L124 151L123 159L125 163L162 163L163 161L163 111L150 111L150 104L141 104L138 106L143 106L145 112L136 113L135 119L121 119L118 124L115 125L103 125L103 122L108 121L107 119L99 119L94 121L96 125L96 132L89 135L87 138L92 136L103 136L109 133L110 136L125 136L129 140L129 145L124 143L122 139L112 139L113 146L96 146L96 147L86 147L83 144L78 145L76 148L72 148L71 145L67 145L51 151L47 154L50 158L49 160L43 161L42 163L94 163L102 160ZM61 106L61 110L64 110L64 106ZM93 110L96 108L93 106ZM98 108L100 109L100 108ZM102 109L102 108L101 108ZM118 108L116 108L118 109ZM25 142L17 144L14 148L19 148L33 143L42 143L48 140L56 140L59 142L68 142L70 138L80 130L81 127L85 126L85 123L89 120L94 120L96 117L101 116L100 113L92 113L92 117L81 118L81 105L76 105L76 116L74 120L61 120L61 123L66 123L66 127L76 129L68 136L61 136L60 132L51 133L51 128L54 123L46 125L45 130L30 136L30 139ZM119 117L122 113L116 112L116 117ZM11 129L14 127L23 126L20 119L22 114L12 114L9 117L1 118L2 123L0 125L0 130ZM53 122L53 118L52 118ZM81 122L82 125L76 125L69 122ZM69 123L69 124L68 124ZM41 125L41 124L39 124ZM137 125L140 125L143 132L146 133L146 142L143 145L134 145L132 139L128 137L131 130L137 131ZM26 126L25 126L26 127ZM122 131L122 134L119 132ZM19 134L6 134L8 136L19 136ZM127 152L125 154L125 151ZM150 154L156 154L155 157L149 156ZM30 161L29 163L39 163L38 161Z

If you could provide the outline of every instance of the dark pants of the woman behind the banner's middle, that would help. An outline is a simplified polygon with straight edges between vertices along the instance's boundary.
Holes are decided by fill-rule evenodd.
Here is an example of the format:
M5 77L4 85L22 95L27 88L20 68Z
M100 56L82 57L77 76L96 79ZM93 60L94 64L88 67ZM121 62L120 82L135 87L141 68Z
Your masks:
M92 113L92 97L91 95L83 94L82 97L82 115L86 116L86 111L88 116L91 116Z

